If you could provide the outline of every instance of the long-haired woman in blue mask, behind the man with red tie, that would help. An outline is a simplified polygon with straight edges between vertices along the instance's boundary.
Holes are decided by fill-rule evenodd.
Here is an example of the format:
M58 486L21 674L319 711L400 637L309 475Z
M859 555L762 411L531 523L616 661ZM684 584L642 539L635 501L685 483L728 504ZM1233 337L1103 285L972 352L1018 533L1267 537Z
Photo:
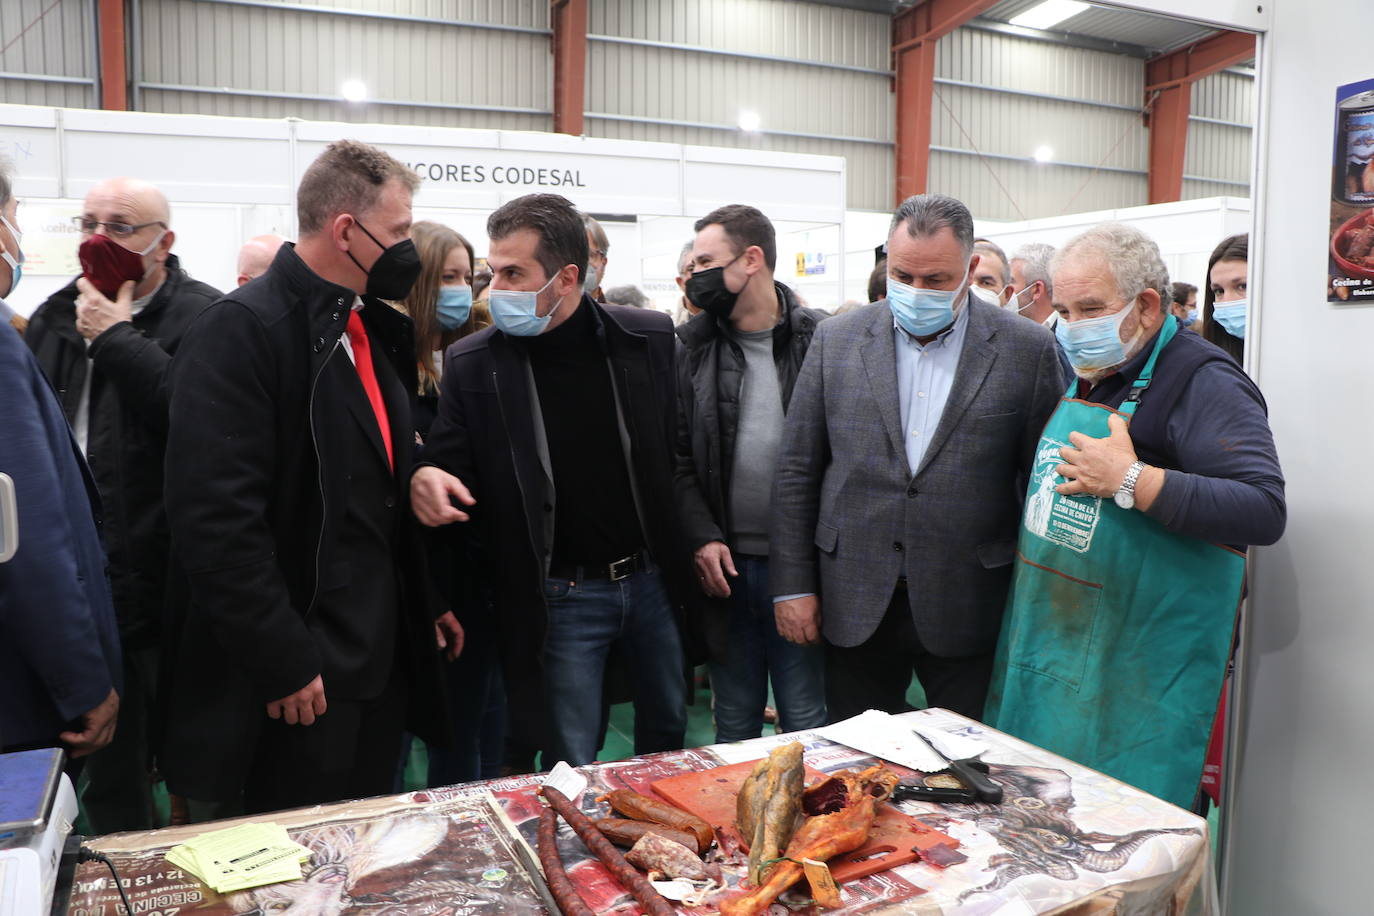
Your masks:
M423 442L438 409L444 350L453 341L485 328L492 316L485 305L473 304L475 258L467 239L447 225L426 220L411 227L411 240L420 255L420 276L398 305L415 321L420 385L414 416L415 434Z

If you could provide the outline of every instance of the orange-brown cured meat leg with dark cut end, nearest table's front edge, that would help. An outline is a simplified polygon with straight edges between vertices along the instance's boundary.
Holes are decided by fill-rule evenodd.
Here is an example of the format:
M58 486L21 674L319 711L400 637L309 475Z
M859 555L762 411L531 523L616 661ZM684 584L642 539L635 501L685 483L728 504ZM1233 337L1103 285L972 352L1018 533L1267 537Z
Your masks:
M866 770L846 770L826 780L816 795L826 797L826 810L837 803L838 810L808 817L797 828L783 861L768 869L767 879L754 890L724 901L720 905L721 916L756 916L768 909L779 894L797 883L802 876L801 861L813 858L819 862L830 861L835 856L852 853L868 839L872 829L874 817L878 813L878 803L886 801L900 777L883 766L871 766ZM835 783L840 783L835 787ZM844 788L840 795L835 788ZM808 791L811 795L816 788Z

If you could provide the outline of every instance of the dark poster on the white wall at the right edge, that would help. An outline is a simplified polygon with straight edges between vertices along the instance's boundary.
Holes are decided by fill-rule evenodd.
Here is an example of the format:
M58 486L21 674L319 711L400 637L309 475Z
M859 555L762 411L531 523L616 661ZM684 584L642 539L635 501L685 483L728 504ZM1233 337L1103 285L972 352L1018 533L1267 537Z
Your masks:
M1336 91L1326 301L1374 304L1374 80Z

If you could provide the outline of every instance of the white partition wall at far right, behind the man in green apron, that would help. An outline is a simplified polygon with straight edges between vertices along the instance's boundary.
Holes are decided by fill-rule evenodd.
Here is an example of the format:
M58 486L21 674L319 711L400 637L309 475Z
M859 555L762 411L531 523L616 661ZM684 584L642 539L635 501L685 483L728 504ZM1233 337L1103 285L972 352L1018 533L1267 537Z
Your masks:
M1374 912L1371 802L1358 786L1374 759L1374 309L1327 304L1326 268L1336 89L1374 77L1374 59L1340 52L1340 36L1371 8L1369 0L1264 8L1274 23L1260 59L1250 247L1259 327L1248 349L1287 479L1289 525L1253 560L1224 861L1235 916L1348 916Z

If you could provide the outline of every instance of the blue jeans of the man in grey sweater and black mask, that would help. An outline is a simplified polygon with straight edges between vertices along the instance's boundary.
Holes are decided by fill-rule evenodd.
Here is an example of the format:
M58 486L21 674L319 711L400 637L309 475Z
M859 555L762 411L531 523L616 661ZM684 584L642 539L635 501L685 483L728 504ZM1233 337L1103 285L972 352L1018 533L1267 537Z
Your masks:
M716 742L742 742L764 731L768 677L772 676L778 726L785 732L826 724L826 654L778 634L768 558L735 553L738 577L730 581L730 650L710 661L716 695Z

